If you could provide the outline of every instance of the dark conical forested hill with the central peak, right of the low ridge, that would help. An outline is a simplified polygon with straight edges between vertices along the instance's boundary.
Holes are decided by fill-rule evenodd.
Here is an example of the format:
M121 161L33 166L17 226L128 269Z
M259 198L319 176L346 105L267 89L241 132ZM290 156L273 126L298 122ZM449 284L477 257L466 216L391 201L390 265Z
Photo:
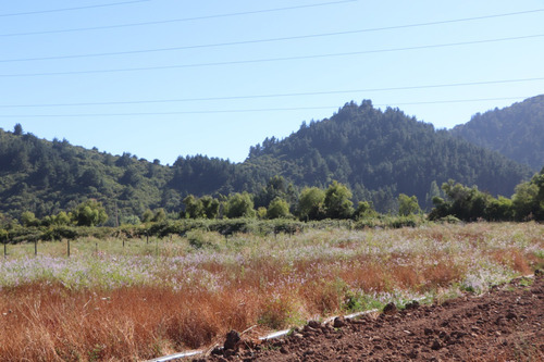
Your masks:
M378 110L370 101L345 104L329 120L302 124L279 141L250 149L246 164L283 175L295 185L348 184L358 200L392 208L399 194L420 201L449 178L478 185L492 195L510 196L531 175L507 158L418 122L401 111Z

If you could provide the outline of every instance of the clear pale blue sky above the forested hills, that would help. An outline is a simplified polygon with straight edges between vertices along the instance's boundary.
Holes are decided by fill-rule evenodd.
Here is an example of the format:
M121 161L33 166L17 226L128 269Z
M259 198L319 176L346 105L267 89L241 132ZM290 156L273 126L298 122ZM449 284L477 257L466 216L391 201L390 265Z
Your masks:
M450 128L544 93L544 0L21 0L0 127L242 162L349 101Z

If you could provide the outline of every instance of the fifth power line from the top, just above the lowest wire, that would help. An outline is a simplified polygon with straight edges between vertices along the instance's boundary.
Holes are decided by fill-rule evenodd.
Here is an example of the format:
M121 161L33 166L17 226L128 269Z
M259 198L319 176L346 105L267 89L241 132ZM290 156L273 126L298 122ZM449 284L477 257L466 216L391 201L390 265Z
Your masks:
M272 93L272 95L251 95L251 96L178 98L178 99L132 100L132 101L109 101L109 102L48 103L48 104L0 104L0 108L48 108L48 107L82 107L82 105L121 105L121 104L178 103L178 102L196 102L196 101L219 101L219 100L238 100L238 99L258 99L258 98L282 98L282 97L301 97L301 96L325 96L325 95L343 95L343 93L375 92L375 91L394 91L394 90L415 90L415 89L433 89L433 88L449 88L449 87L468 87L468 86L497 85L497 84L524 83L524 82L536 82L536 80L544 80L544 77L518 78L518 79L499 79L499 80L482 80L482 82L468 82L468 83L450 83L450 84L404 86L404 87L387 87L387 88L363 88L363 89L349 89L349 90L306 91L306 92Z

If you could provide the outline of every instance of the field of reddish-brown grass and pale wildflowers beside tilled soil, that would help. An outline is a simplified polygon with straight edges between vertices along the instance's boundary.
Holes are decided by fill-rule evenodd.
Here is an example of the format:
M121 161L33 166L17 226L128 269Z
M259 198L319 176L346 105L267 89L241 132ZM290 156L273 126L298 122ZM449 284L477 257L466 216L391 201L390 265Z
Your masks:
M294 236L8 246L0 360L144 360L252 325L448 298L544 266L544 225L426 225ZM219 339L218 339L219 338Z

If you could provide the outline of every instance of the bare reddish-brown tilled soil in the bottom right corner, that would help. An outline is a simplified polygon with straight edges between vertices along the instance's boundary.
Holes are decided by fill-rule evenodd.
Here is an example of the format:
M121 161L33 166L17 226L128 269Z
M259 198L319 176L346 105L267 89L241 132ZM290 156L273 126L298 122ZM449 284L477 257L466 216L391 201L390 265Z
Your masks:
M232 347L231 334L227 349L194 361L544 361L543 324L544 277L536 272L483 296L310 322L260 345L234 336Z

